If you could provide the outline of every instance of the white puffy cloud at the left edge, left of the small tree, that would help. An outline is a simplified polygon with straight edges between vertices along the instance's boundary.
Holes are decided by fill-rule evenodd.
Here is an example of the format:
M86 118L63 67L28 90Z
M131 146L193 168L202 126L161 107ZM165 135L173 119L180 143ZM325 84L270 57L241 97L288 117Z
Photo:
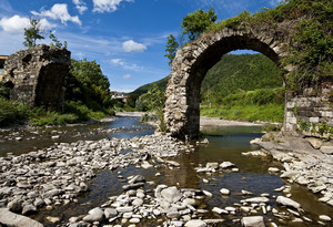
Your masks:
M13 16L11 18L2 18L0 20L0 27L3 31L10 33L20 33L29 25L28 18L21 18L20 16Z

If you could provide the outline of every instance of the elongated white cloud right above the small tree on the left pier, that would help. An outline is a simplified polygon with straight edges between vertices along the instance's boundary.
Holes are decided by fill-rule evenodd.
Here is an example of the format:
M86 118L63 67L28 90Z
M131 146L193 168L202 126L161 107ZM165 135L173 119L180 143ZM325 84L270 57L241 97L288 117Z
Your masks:
M78 16L70 16L68 12L67 4L54 4L51 10L42 10L41 12L31 11L32 14L39 17L48 17L53 20L59 19L62 23L67 23L67 21L72 21L73 23L78 23L79 25L82 24Z

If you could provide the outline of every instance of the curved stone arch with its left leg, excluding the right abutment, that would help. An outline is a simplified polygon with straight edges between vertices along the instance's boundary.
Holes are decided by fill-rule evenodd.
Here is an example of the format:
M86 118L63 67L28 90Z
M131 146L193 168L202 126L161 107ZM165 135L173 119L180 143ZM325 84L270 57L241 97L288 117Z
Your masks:
M286 50L286 42L276 37L272 31L224 28L178 51L165 92L164 121L168 131L175 137L198 137L200 87L208 70L223 54L239 49L261 52L280 65L280 59L287 54L283 51Z

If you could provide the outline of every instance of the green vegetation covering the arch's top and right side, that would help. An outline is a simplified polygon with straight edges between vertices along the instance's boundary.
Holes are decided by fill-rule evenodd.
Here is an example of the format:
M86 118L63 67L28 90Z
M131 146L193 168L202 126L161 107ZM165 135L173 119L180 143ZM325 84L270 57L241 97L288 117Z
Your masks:
M304 82L315 83L323 76L333 75L332 9L331 0L284 0L274 9L263 9L252 16L244 11L238 17L212 23L205 33L250 25L275 28L283 21L297 21L294 28L289 28L293 42L289 48L290 54L282 59L282 66L293 65L295 69L289 74L287 84L297 91Z

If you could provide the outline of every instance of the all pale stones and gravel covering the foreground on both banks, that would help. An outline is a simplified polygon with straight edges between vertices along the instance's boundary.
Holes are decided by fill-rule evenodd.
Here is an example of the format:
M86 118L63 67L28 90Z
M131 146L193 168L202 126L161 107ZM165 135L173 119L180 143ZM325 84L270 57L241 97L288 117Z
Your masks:
M135 166L138 172L142 168L182 168L175 162L178 158L173 157L182 152L193 152L194 146L162 134L56 143L48 148L19 156L8 154L0 157L0 207L3 207L0 208L0 224L41 226L18 214L29 216L48 209L51 210L48 213L50 216L46 215L43 219L51 226L142 226L142 223L180 227L274 227L280 224L330 226L332 217L327 213L314 216L309 209L303 210L302 205L293 199L291 187L292 183L306 183L304 185L313 193L322 195L320 202L332 206L333 162L325 161L331 158L331 144L313 138L286 137L282 134L268 134L252 143L262 146L262 151L244 153L244 156L272 155L282 162L284 169L271 167L268 171L285 178L284 186L280 185L270 193L249 192L246 188L234 190L225 186L215 192L213 188L182 188L178 184L148 182L143 175L137 175L137 171L123 177L122 169L131 166ZM204 140L196 143L196 146L208 144L209 140ZM321 166L323 162L325 165ZM190 168L205 185L214 185L216 177L242 172L228 161L199 163ZM103 169L118 173L122 193L119 192L112 197L104 196L94 208L89 207L90 210L75 213L70 218L67 216L61 219L56 213L52 215L58 207L78 203L81 195L92 189L91 179ZM163 177L163 171L161 173L157 172L155 176ZM233 200L228 205L208 207L205 200L214 199L215 196L222 196L226 202ZM238 202L234 202L234 196L240 197ZM82 204L78 204L80 205Z

